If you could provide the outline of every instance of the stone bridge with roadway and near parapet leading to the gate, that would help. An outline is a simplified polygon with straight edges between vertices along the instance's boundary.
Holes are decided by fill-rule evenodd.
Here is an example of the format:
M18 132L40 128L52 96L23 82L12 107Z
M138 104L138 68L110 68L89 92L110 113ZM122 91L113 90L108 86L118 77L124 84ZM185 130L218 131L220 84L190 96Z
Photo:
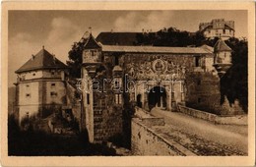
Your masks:
M221 125L180 112L136 107L132 152L137 155L247 155L246 125Z

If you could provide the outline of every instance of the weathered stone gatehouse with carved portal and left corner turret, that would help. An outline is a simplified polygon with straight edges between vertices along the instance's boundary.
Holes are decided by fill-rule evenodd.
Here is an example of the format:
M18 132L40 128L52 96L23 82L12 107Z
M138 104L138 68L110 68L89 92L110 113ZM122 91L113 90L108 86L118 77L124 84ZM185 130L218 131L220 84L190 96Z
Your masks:
M83 112L90 141L123 132L125 103L134 102L148 111L153 107L175 111L177 104L186 103L209 106L212 97L220 96L216 59L205 46L100 45L90 34L82 67Z

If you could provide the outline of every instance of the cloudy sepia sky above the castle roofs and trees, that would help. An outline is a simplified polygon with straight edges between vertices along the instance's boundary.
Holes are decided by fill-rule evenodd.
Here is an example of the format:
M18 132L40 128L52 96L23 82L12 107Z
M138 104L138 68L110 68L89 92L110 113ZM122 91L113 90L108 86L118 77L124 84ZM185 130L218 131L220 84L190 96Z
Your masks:
M142 31L174 27L196 31L213 19L234 21L235 36L247 37L247 11L9 11L9 86L14 73L42 47L66 63L73 42L92 27L100 31Z

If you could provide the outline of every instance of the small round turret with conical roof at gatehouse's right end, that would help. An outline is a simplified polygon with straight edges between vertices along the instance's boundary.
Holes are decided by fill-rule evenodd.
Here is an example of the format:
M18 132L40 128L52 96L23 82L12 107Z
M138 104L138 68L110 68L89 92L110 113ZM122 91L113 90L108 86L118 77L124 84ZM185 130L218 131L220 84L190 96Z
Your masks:
M222 78L225 72L230 68L231 64L231 48L228 47L224 40L219 39L214 47L214 67L216 68L218 75Z

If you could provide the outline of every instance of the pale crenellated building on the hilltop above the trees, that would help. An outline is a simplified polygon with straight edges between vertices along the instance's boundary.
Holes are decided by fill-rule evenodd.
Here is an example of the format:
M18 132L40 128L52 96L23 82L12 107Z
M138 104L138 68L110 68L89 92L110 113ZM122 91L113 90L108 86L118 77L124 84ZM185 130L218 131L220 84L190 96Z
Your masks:
M228 39L234 37L234 21L224 21L224 19L215 19L210 23L199 24L199 30L207 38L221 37Z

